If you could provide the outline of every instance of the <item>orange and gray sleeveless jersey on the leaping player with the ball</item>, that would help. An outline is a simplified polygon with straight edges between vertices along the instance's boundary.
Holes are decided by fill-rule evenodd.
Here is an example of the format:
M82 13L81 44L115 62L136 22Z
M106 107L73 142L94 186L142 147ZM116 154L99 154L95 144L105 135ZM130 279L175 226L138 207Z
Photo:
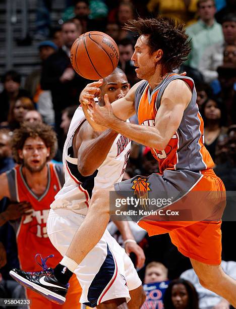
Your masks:
M159 163L160 174L164 170L190 170L199 172L214 166L204 146L204 124L196 104L197 93L194 81L186 76L169 74L153 91L144 81L135 93L135 109L139 124L155 126L155 118L161 104L161 96L174 79L184 80L192 90L191 101L184 111L178 130L173 134L165 149L151 148L153 157Z

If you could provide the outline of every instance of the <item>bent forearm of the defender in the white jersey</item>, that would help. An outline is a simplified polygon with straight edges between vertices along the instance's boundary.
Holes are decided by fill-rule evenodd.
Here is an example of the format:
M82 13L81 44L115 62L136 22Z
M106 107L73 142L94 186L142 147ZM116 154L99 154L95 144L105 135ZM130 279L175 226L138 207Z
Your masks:
M80 147L78 170L82 176L92 175L102 165L117 135L113 130L106 130Z

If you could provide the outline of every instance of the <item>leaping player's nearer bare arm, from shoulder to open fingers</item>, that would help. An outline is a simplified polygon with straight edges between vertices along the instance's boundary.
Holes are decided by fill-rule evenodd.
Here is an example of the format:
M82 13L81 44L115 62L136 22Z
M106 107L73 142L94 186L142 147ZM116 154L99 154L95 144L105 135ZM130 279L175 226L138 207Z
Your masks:
M107 95L104 96L106 103L104 107L94 105L92 109L90 108L91 118L96 123L102 123L140 144L163 150L179 128L191 97L192 92L184 81L180 79L171 81L162 95L154 127L126 123L115 117Z

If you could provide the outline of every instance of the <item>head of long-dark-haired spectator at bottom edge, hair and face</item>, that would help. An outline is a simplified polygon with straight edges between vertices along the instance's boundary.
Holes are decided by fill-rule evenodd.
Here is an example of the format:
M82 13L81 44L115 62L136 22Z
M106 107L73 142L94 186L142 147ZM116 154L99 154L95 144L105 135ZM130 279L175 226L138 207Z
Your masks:
M184 279L170 282L163 303L165 309L199 309L198 293L193 284Z

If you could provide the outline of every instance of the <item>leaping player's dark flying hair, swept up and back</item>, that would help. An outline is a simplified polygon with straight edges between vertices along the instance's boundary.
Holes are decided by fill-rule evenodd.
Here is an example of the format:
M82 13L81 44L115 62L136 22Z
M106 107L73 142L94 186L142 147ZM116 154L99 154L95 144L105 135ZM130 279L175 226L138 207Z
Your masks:
M137 32L139 35L148 35L147 44L150 47L150 55L162 49L163 56L159 64L163 65L168 72L179 68L187 60L191 51L184 24L175 24L172 18L133 19L123 28Z

